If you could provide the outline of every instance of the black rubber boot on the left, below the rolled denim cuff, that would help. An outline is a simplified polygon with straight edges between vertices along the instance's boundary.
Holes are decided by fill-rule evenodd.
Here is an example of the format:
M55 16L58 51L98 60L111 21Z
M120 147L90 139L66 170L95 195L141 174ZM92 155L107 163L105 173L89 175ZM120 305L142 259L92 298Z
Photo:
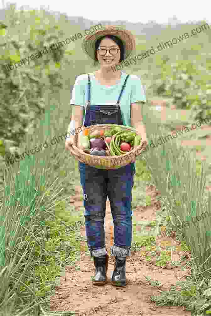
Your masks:
M94 285L103 285L107 281L107 271L108 271L108 262L109 256L106 254L102 257L93 257L95 265L95 276L92 279Z

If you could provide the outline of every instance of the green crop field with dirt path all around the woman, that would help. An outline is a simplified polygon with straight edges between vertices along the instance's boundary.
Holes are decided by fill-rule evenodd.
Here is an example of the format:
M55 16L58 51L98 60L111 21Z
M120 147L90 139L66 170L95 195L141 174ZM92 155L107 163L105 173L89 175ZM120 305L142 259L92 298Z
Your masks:
M147 41L136 36L134 56L189 34L123 69L146 88L149 143L177 136L136 159L127 286L110 285L109 257L108 283L99 288L91 282L78 162L65 150L65 138L51 142L67 131L76 76L95 70L80 46L84 29L65 15L6 9L0 25L0 315L211 314L210 32L201 21L166 27ZM29 64L5 67L32 54L37 58ZM107 200L108 250L111 222Z

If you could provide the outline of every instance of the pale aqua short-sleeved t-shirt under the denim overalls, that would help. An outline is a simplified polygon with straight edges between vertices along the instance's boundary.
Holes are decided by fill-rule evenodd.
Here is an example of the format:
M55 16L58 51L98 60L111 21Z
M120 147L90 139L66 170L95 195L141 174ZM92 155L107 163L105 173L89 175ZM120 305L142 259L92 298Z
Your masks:
M122 85L125 82L126 76L127 74L121 71L121 79L117 82L117 84L111 87L106 87L106 86L101 85L100 82L96 80L93 73L90 73L91 105L116 104L121 92ZM71 99L71 104L84 107L83 125L84 125L84 120L85 120L85 111L86 111L87 101L88 101L88 75L84 74L76 78L76 82L74 84L73 91L72 91L72 99ZM131 103L135 103L135 102L146 102L146 96L145 96L140 78L138 76L130 75L127 79L126 86L124 88L124 91L120 99L121 115L123 119L123 124L125 126L131 127L130 105ZM74 128L73 125L70 127Z

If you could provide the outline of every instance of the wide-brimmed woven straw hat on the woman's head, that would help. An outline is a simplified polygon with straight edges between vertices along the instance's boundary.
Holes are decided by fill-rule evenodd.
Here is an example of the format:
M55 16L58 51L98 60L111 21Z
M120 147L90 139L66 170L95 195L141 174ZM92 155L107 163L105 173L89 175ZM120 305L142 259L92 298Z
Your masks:
M101 30L93 34L88 34L82 42L85 53L93 60L95 60L95 42L101 36L105 35L115 35L122 40L125 46L125 59L129 57L135 49L135 39L130 31L126 31L122 26L106 25L102 27Z

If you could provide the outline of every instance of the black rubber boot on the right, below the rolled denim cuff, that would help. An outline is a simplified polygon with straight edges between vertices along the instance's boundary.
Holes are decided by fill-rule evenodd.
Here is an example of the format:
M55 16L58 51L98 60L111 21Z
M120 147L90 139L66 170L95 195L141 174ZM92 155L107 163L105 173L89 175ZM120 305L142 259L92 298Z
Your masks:
M126 286L125 264L126 259L120 260L115 257L114 272L111 279L111 284L115 286Z

